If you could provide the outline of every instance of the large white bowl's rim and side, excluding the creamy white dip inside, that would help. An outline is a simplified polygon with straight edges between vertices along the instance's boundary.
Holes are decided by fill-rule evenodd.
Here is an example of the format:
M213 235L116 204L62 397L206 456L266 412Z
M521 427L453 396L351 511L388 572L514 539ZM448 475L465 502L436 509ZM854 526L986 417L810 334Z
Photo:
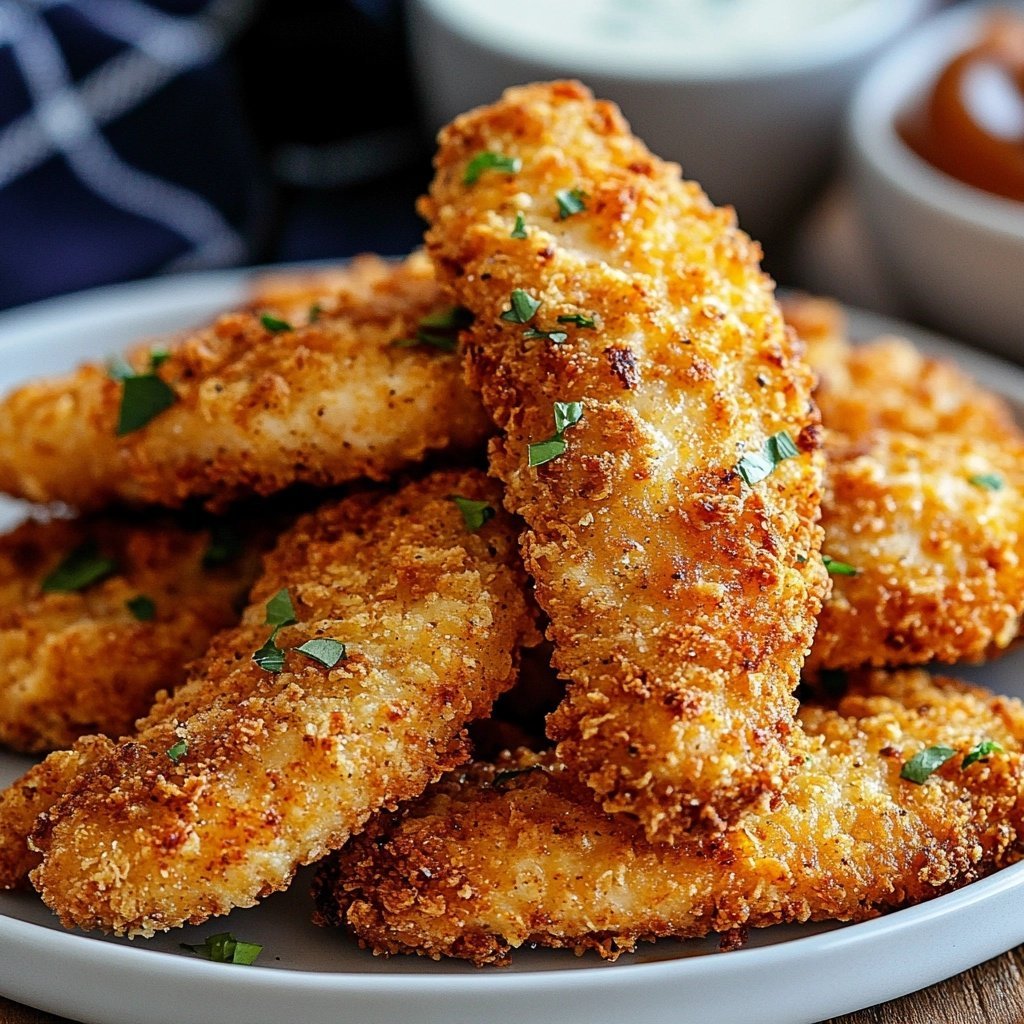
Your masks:
M558 4L560 0L552 0ZM729 53L616 54L582 33L501 31L509 0L411 0L410 40L426 127L492 102L510 85L579 78L623 109L650 150L682 164L762 241L782 236L827 171L850 92L931 0L859 0L784 45ZM600 5L595 4L595 10ZM621 8L627 7L620 4ZM649 3L632 4L638 16ZM623 50L627 49L623 47Z

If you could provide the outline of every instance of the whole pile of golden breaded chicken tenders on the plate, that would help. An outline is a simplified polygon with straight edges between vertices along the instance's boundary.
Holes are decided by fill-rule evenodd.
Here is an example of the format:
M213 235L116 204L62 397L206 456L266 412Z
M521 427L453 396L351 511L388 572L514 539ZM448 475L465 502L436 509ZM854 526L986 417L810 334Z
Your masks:
M0 741L52 751L0 886L150 936L319 861L318 923L485 965L1020 859L1024 706L922 668L1020 633L1004 402L780 308L578 83L435 166L423 251L0 404L0 489L77 511L0 540Z

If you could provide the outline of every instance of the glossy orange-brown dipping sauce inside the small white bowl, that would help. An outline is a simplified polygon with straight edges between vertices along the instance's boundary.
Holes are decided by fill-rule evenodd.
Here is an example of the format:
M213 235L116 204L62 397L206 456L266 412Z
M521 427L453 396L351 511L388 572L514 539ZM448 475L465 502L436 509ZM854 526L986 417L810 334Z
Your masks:
M1024 201L1024 19L993 14L896 129L940 171Z

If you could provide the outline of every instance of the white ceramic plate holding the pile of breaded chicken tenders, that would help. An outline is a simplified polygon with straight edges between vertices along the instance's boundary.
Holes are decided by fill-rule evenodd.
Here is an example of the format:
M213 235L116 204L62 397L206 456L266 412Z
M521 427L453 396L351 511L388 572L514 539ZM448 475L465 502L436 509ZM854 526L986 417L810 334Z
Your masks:
M0 314L0 392L202 321L244 293L245 273L102 289ZM1024 372L866 313L854 334L906 334L951 355L1024 410ZM13 503L0 516L17 514ZM0 523L2 524L2 523ZM1024 696L1024 651L963 675ZM0 783L30 764L0 754ZM65 932L33 895L0 894L0 992L95 1024L802 1024L933 984L1024 942L1024 864L959 892L848 927L773 928L738 951L662 941L606 965L523 950L509 970L375 959L309 924L308 878L259 907L151 940ZM180 942L229 930L264 946L257 967L198 959Z

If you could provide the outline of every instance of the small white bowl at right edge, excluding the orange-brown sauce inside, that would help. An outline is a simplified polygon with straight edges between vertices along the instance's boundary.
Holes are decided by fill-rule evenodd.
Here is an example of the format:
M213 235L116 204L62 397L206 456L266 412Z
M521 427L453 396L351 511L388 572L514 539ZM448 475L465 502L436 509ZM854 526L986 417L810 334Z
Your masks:
M942 68L977 38L1004 2L955 8L877 63L848 122L857 210L876 255L915 318L1013 358L1024 358L1024 202L936 170L899 137L896 120Z

